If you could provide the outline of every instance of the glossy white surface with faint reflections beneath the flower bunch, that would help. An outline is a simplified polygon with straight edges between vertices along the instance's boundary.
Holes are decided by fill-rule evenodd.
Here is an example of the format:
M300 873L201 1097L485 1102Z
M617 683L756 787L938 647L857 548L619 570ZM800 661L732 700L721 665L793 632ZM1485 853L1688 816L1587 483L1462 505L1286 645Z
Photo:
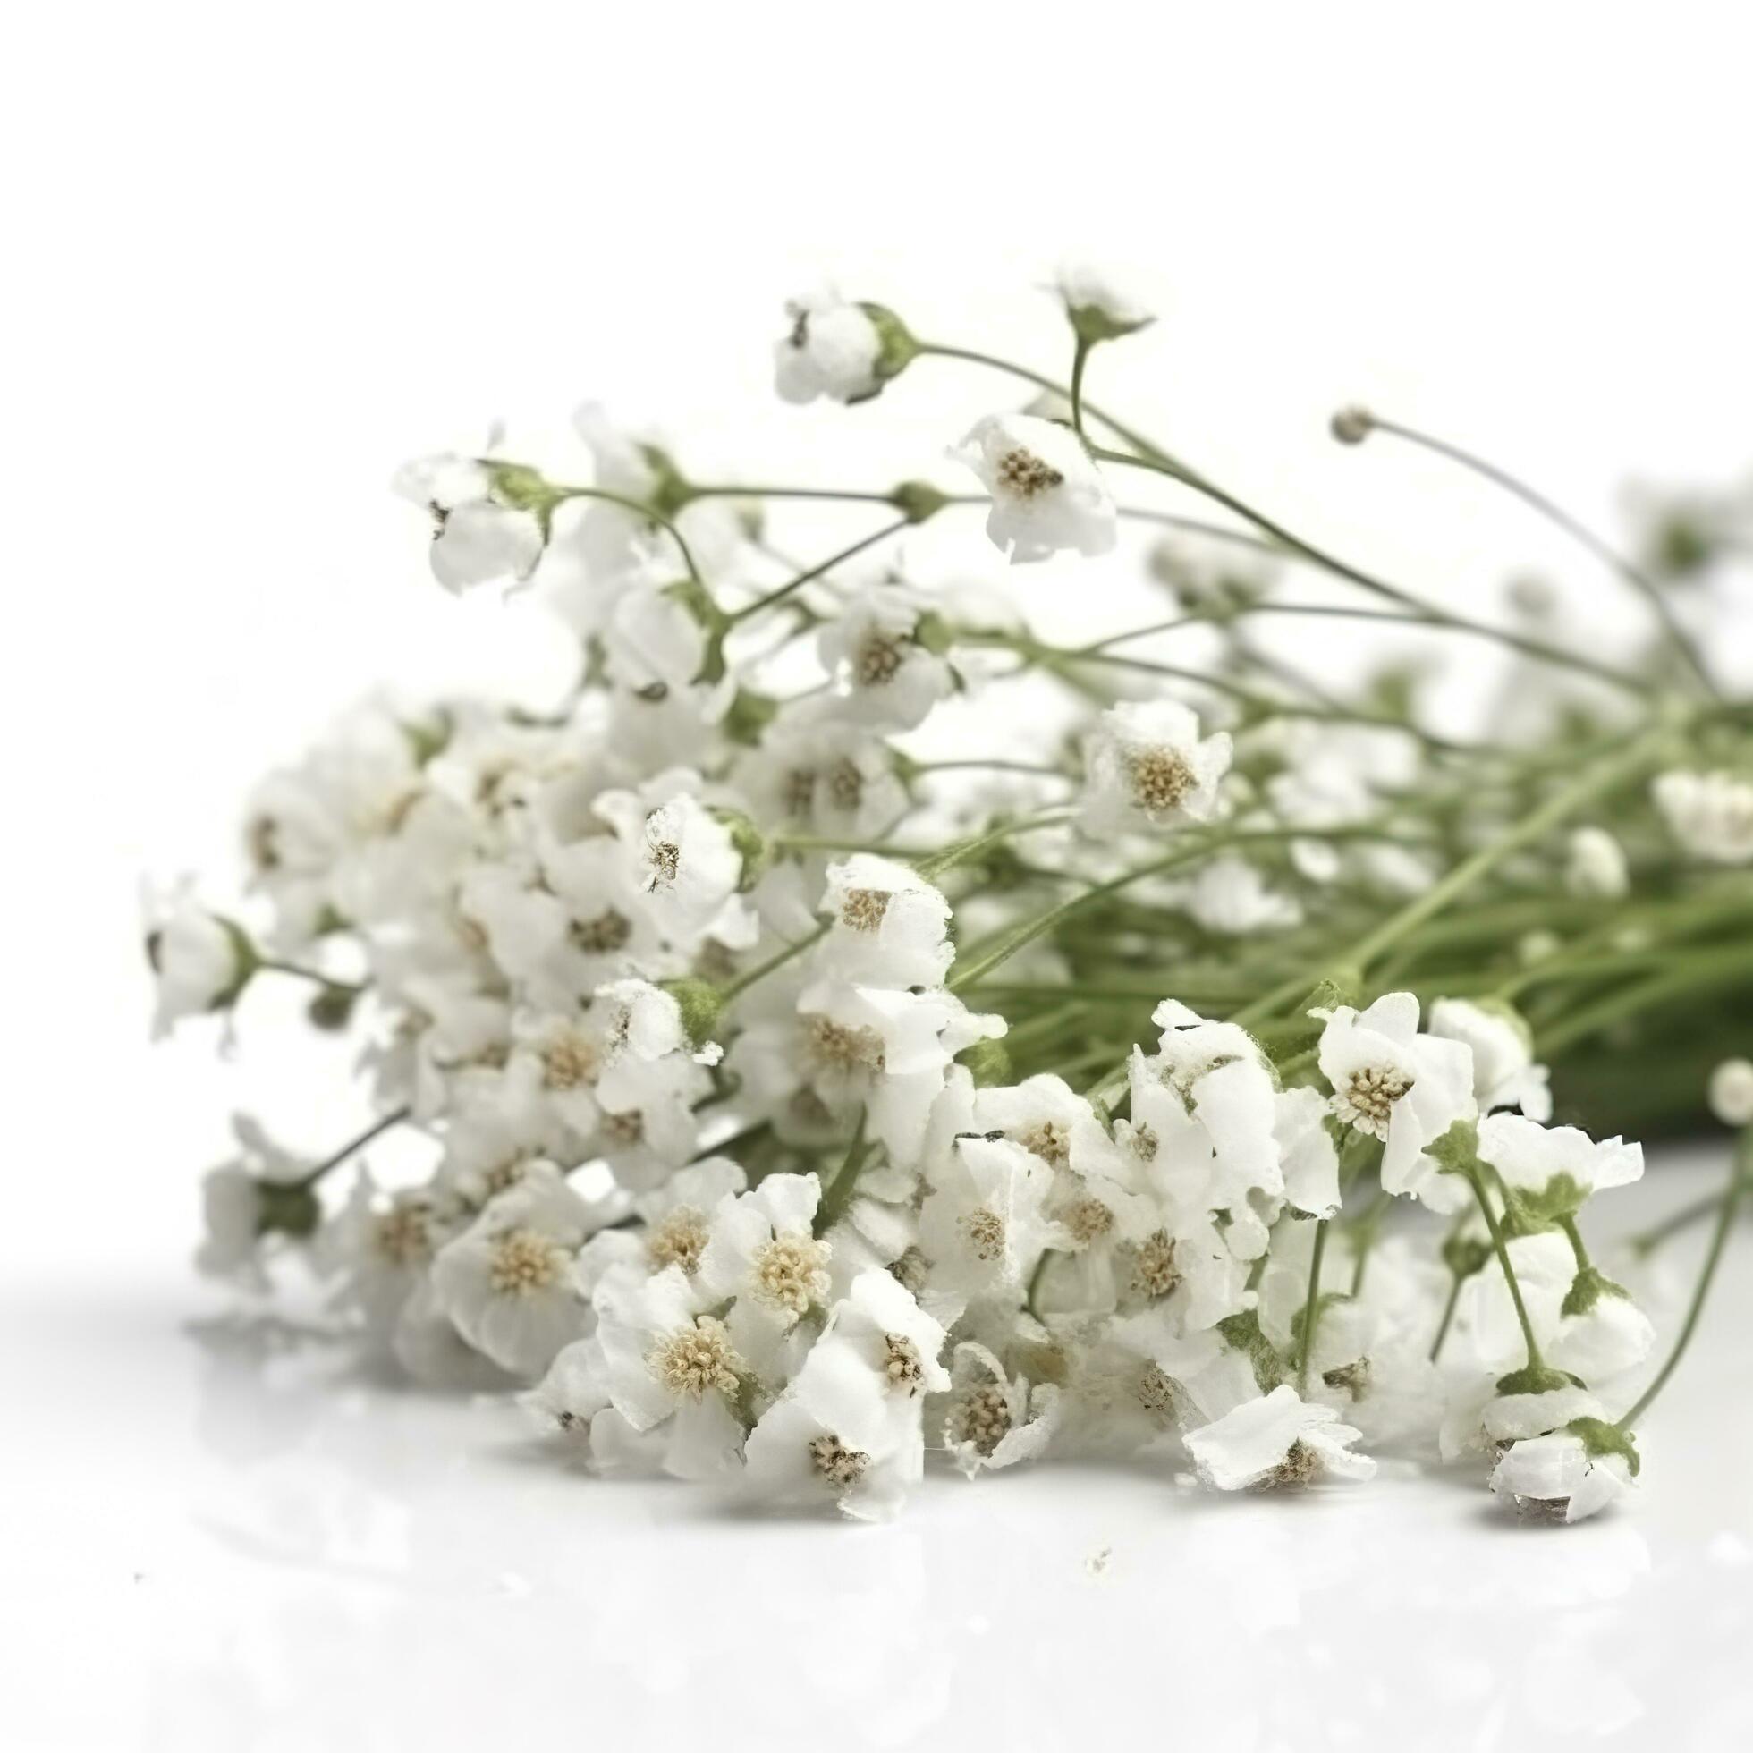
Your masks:
M503 1402L363 1380L293 1322L191 1322L168 1274L63 1290L7 1322L11 1744L1744 1749L1734 1266L1639 1506L1574 1529L1394 1466L1302 1499L1055 1467L933 1480L892 1527L738 1515L557 1467Z

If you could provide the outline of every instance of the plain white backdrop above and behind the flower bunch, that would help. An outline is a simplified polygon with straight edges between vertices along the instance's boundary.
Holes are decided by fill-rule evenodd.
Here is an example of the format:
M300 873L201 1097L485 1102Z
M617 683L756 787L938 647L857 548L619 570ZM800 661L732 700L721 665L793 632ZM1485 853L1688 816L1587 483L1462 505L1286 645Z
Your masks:
M1586 561L1324 421L1374 403L1604 528L1629 477L1744 477L1749 46L1721 4L14 18L7 1348L47 1285L124 1308L138 1262L181 1257L226 1101L275 1089L266 1029L235 1076L147 1052L137 875L202 866L223 894L242 791L382 678L547 673L535 617L431 586L386 491L405 456L496 417L561 456L594 398L701 473L887 486L1010 389L920 366L850 415L778 408L780 302L826 273L1059 372L1034 287L1089 252L1162 287L1104 396L1450 600L1488 612L1508 570L1553 571L1571 636L1611 645L1636 615Z

